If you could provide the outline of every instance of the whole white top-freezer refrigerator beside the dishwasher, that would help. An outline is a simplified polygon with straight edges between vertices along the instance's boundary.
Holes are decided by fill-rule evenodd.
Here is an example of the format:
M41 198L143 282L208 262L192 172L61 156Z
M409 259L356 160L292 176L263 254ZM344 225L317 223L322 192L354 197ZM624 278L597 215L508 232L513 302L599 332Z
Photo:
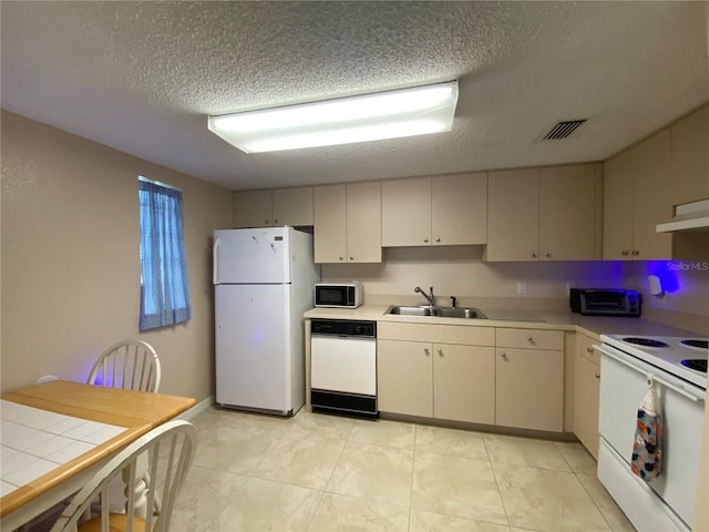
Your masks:
M291 416L305 405L302 314L320 267L292 227L214 232L216 401Z

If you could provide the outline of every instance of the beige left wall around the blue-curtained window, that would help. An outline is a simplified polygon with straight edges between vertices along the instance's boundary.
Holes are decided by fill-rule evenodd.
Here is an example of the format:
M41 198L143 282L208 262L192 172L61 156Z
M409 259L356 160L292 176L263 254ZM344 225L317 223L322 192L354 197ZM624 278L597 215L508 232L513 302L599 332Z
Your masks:
M141 338L161 391L213 395L212 232L230 227L230 192L12 113L1 142L2 391L44 374L83 380L105 347ZM193 314L144 334L138 174L183 191Z

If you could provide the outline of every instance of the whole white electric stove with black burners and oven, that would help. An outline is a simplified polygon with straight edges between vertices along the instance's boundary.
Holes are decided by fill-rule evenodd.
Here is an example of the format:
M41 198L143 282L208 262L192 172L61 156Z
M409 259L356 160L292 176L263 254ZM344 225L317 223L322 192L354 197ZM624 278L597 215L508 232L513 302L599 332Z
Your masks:
M602 335L598 479L638 531L689 532L693 523L707 396L707 338ZM660 475L630 471L638 407L661 410Z

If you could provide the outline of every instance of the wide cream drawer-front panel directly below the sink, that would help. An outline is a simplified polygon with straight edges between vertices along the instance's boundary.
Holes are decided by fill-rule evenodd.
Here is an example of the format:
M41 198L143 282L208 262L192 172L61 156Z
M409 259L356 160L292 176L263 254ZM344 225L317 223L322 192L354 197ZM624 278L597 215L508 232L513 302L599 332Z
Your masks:
M458 325L420 325L379 321L377 337L390 340L430 341L466 346L494 346L493 327Z

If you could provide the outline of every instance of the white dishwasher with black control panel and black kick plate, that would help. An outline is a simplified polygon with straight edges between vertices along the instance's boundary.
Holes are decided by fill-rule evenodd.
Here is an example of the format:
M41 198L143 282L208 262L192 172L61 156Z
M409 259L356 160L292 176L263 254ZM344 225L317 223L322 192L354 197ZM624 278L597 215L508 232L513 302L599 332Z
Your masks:
M377 321L310 320L314 410L377 417Z

